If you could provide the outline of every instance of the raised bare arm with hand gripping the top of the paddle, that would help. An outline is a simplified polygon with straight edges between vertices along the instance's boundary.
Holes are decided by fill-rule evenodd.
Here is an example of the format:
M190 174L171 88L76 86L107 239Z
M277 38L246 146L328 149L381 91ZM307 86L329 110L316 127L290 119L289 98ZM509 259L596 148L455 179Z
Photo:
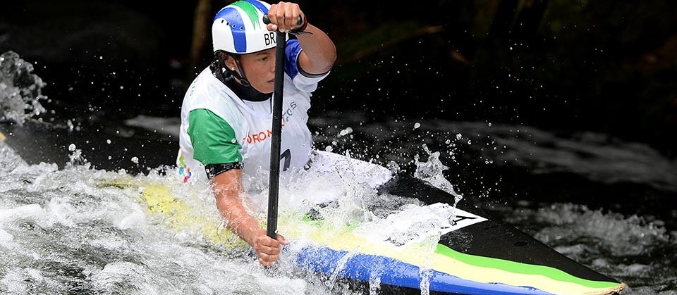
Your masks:
M268 30L274 31L278 28L282 32L294 30L298 27L298 24L292 20L298 20L299 16L305 19L305 15L298 4L289 2L273 4L268 11L268 18L271 20ZM298 57L300 68L306 73L314 75L327 73L336 61L334 42L325 32L314 25L308 24L305 32L312 34L298 35L298 42L303 49Z

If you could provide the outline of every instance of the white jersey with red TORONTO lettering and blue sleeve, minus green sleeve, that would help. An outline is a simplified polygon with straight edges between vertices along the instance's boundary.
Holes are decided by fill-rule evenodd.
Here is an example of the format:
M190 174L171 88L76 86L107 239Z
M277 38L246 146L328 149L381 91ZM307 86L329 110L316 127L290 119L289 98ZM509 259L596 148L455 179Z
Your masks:
M287 50L283 90L281 170L303 167L309 161L312 149L312 135L307 127L310 94L317 89L317 82L327 76L325 74L319 77L307 77L300 73L295 63L300 53L298 40L288 41L289 46L291 49ZM184 181L188 181L188 178L193 178L195 175L205 175L205 165L210 164L201 163L196 159L199 157L194 157L195 146L189 135L190 113L199 109L214 113L232 127L234 138L231 142L240 146L239 154L245 174L255 175L258 170L269 170L272 136L271 101L272 99L244 101L214 77L209 68L203 70L190 85L181 108L180 150L177 165L179 172L185 177ZM194 124L198 123L201 124L201 122ZM209 160L200 160L209 162Z

